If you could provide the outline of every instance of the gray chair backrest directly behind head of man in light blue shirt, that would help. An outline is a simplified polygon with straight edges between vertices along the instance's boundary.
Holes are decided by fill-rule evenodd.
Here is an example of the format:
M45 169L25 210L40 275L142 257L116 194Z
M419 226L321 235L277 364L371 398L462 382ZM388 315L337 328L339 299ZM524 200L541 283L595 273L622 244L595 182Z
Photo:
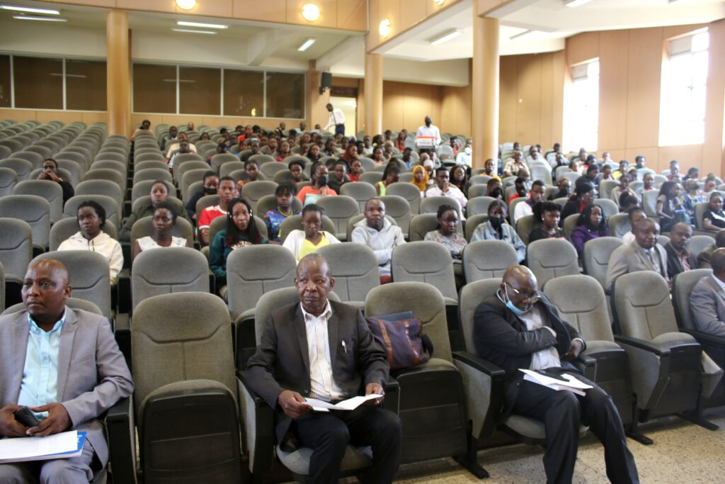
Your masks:
M70 274L73 297L91 301L111 319L111 276L103 255L91 250L55 250L38 255L33 261L42 259L62 262Z

